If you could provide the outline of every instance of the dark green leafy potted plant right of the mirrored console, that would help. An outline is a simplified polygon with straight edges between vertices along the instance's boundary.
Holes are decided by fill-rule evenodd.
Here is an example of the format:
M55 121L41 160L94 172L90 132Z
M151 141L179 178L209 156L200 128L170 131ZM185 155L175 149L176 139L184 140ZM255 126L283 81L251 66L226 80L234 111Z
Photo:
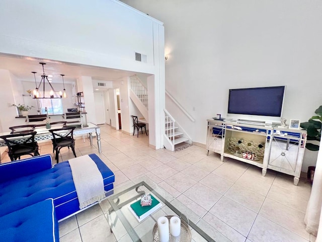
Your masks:
M300 127L307 131L307 141L320 141L321 140L321 127L322 127L322 106L319 106L315 113L317 115L312 116L308 119L308 122L304 122L300 124ZM306 149L317 151L319 149L319 145L312 144L310 142L306 142Z

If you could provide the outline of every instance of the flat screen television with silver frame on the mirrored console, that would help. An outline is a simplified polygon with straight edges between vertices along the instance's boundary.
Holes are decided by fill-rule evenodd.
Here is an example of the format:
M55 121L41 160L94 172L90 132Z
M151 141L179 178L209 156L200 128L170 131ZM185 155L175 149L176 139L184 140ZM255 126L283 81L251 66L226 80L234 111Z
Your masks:
M227 118L280 122L285 86L230 89Z

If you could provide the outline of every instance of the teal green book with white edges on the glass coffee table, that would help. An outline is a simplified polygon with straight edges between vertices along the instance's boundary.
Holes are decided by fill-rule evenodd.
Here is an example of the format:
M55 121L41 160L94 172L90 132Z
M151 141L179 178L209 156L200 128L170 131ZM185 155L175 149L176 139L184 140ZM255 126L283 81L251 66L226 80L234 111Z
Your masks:
M136 219L140 222L148 215L156 211L158 208L162 207L162 204L154 198L151 194L152 204L150 206L141 206L141 200L132 203L129 206L130 211L134 214Z

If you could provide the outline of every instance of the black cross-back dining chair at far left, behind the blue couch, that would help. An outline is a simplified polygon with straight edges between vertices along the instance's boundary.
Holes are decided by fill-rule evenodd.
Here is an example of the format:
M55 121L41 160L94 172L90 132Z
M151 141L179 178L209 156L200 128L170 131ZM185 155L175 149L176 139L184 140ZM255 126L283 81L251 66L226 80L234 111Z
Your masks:
M22 131L21 133L0 136L8 146L8 155L12 161L23 155L39 155L38 143L35 141L36 131Z

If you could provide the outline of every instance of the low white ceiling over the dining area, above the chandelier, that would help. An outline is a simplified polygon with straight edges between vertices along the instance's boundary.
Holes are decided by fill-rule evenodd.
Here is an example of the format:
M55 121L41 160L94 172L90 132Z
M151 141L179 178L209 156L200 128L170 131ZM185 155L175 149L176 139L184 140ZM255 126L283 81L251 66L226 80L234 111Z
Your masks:
M40 59L27 56L9 56L0 54L0 69L9 70L18 79L34 82L34 75L31 72L37 72L36 80L41 80L43 74L42 65L39 62L46 63L44 66L46 75L53 75L52 82L62 82L60 74L64 74L64 81L71 83L78 77L88 76L93 80L115 81L123 77L135 75L134 72L123 70L79 65L73 63L64 63Z

